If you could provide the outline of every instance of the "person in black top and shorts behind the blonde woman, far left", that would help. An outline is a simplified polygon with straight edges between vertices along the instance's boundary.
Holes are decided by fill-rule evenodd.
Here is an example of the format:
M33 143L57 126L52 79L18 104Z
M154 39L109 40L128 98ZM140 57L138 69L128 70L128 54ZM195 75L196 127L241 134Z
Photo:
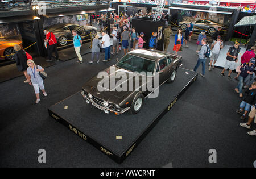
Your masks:
M28 81L28 74L27 74L27 56L26 52L22 50L20 45L15 44L14 45L14 50L16 51L15 53L15 60L16 60L16 66L20 72L24 73L24 76L26 77L26 80L24 81L25 83L30 82Z

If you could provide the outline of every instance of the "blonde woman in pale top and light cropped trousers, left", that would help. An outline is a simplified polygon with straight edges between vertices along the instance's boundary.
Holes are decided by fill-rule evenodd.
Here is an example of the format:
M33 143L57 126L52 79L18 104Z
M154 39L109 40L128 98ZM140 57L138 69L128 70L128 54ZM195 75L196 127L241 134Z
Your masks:
M30 59L27 60L27 65L28 81L30 81L30 85L33 85L36 94L36 103L39 103L39 88L42 90L44 96L47 96L47 93L44 90L44 81L39 75L39 72L43 72L44 69L39 65L35 65L34 61Z

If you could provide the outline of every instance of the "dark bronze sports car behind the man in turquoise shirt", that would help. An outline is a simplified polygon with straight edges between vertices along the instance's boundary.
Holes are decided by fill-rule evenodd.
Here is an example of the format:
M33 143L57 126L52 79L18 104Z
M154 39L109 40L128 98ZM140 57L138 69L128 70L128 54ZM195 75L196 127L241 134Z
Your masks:
M60 23L46 28L47 31L52 32L58 45L64 46L68 43L65 40L72 40L72 30L76 30L77 34L81 36L82 39L90 39L90 33L92 33L92 38L97 34L97 28L92 26L80 26L71 23Z

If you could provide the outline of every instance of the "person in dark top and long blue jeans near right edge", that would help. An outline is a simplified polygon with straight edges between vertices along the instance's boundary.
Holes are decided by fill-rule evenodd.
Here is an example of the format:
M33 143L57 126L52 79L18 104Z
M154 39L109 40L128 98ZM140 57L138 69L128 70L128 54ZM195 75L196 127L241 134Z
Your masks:
M251 59L249 63L244 63L240 67L240 76L238 77L238 85L235 88L235 91L239 93L240 97L243 97L243 80L249 75L253 74L253 70L255 68L255 59Z

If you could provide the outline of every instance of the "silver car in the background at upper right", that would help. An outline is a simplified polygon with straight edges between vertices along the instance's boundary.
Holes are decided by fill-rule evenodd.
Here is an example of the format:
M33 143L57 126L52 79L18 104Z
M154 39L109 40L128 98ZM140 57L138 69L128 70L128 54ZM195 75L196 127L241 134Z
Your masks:
M179 26L181 26L182 30L185 30L187 27L187 24L190 23L189 21L183 21L179 22ZM221 30L225 29L225 26L223 24L213 22L212 20L206 20L206 19L199 19L199 20L193 20L192 21L194 25L194 31L201 32L203 30L208 31L208 34L212 35L218 27L221 28Z

